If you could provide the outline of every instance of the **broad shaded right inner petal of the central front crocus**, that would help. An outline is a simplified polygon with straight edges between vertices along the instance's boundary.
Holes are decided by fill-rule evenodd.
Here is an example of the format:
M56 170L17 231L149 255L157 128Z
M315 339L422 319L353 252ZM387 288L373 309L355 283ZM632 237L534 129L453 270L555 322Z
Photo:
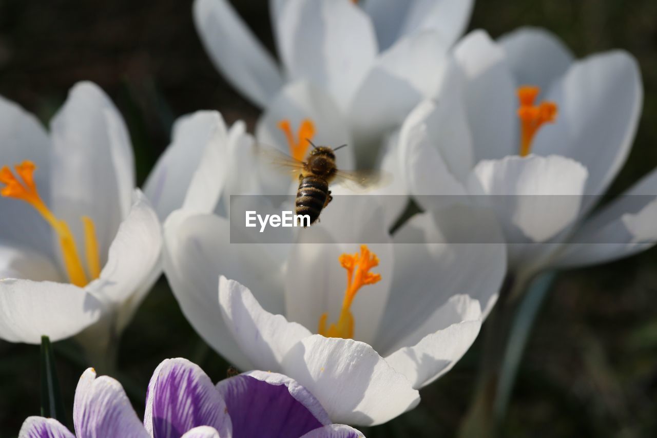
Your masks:
M486 318L507 268L503 237L492 214L464 206L417 214L396 232L394 242L394 281L374 343L377 351L387 356L459 322L422 329L455 295L477 300Z

